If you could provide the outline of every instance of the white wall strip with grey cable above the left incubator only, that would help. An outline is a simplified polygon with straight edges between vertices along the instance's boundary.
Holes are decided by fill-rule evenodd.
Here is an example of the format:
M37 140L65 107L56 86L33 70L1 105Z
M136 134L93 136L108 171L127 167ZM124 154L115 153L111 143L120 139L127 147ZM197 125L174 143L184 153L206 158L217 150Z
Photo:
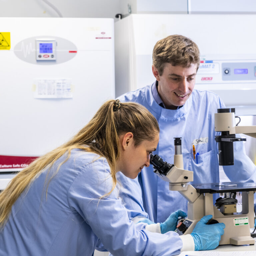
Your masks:
M49 0L63 17L114 18L120 0ZM0 17L59 17L43 0L0 0Z

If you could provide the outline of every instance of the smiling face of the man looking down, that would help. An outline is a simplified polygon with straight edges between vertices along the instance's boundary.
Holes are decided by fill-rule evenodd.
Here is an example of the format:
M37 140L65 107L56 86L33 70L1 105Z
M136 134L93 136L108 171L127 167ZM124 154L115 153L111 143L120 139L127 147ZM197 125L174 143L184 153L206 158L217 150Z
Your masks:
M153 74L158 81L158 93L168 109L177 109L185 104L195 86L197 64L189 67L173 66L165 63L160 76L156 67L152 66Z

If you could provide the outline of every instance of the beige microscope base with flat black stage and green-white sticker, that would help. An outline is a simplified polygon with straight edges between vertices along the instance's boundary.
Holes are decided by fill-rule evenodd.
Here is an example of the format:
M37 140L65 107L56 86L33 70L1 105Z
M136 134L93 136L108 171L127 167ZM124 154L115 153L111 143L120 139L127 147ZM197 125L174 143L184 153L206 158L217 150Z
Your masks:
M224 234L221 236L220 245L248 245L254 244L250 228L254 226L254 191L255 183L212 183L194 185L197 194L196 200L188 202L188 218L183 221L182 229L176 230L179 235L192 233L196 223L205 215L212 215L212 219L225 224ZM242 211L232 215L221 213L213 205L213 193L241 192ZM180 191L184 194L184 191ZM211 224L209 224L211 225ZM181 229L180 228L180 229Z

